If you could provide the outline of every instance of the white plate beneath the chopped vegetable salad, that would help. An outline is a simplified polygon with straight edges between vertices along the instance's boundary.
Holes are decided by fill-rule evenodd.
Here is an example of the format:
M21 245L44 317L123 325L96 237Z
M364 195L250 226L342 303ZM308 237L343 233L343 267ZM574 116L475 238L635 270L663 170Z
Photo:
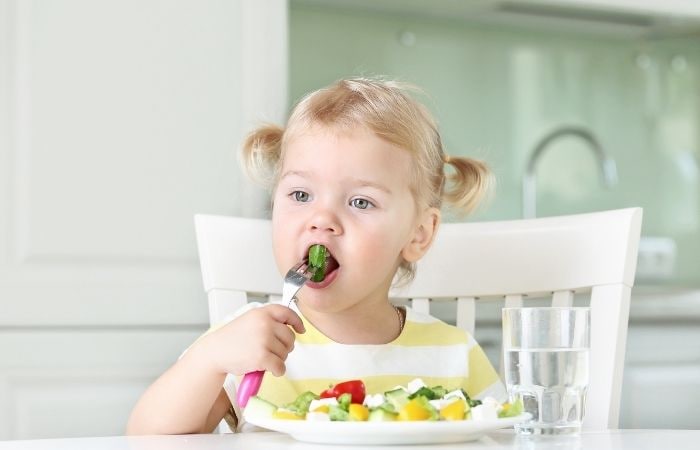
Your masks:
M495 420L415 422L312 422L305 420L247 419L248 423L302 442L317 444L445 444L479 439L489 431L528 420L525 413Z

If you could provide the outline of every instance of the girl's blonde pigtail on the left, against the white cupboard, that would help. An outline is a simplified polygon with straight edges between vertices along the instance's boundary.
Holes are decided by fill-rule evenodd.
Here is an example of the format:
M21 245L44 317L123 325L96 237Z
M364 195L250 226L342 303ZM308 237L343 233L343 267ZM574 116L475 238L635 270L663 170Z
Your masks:
M246 136L241 147L241 163L254 181L272 187L282 153L284 129L266 124Z

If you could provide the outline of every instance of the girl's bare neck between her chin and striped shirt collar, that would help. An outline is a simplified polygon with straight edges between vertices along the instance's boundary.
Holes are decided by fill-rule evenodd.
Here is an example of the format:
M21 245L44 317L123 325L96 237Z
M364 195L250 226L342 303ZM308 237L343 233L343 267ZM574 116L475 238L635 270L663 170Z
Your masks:
M372 308L325 313L297 304L306 320L329 339L340 344L387 344L401 333L403 316L388 301Z

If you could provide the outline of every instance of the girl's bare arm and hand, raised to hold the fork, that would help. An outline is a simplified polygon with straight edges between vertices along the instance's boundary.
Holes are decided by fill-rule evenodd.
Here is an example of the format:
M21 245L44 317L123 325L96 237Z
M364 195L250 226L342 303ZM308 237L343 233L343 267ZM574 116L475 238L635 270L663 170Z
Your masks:
M294 347L294 332L288 325L304 332L294 311L268 305L199 339L139 399L127 433L213 431L231 406L222 389L227 373L267 370L276 376L284 374L284 361Z

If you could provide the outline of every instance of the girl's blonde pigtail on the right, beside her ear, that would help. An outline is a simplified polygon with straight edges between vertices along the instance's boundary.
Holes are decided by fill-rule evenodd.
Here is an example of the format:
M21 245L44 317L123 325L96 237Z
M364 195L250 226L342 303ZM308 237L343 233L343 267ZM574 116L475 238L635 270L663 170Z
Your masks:
M454 170L446 175L444 199L458 212L473 211L491 192L495 178L483 162L457 156L446 156L445 164Z

